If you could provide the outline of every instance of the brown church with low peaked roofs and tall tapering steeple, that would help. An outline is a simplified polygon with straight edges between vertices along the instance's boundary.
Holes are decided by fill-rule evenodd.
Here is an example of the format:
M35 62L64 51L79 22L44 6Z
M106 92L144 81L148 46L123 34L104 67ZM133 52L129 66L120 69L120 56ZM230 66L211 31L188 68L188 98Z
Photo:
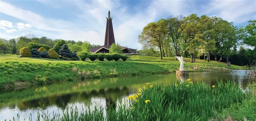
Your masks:
M104 45L91 48L91 53L108 53L111 44L116 43L113 25L112 25L112 17L110 17L110 11L108 11L108 18L106 19L107 19L107 25L106 25ZM131 48L122 47L122 46L121 46L121 49L123 50L123 53L136 53L137 51L137 49L131 49Z

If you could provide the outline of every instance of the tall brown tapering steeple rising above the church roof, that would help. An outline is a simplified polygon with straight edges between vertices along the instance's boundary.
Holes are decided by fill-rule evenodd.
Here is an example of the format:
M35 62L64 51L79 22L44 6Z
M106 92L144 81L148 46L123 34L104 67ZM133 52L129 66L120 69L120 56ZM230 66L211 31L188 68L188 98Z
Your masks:
M108 11L108 18L106 17L106 19L107 19L107 25L106 25L104 45L111 45L112 43L116 43L116 42L114 37L113 25L112 25L112 17L110 17L110 11Z

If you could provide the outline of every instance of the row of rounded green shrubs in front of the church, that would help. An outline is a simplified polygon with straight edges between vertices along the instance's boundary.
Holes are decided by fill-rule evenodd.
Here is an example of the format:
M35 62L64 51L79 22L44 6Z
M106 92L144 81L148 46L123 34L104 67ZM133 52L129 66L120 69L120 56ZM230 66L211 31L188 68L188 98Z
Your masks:
M126 55L121 55L118 53L113 53L113 54L109 54L109 53L97 53L97 54L90 54L87 52L79 52L77 54L77 56L80 58L80 60L84 61L86 58L89 58L91 61L95 61L96 59L98 59L99 61L104 61L104 59L108 60L108 61L118 61L120 58L123 61L126 61L127 58L129 58Z

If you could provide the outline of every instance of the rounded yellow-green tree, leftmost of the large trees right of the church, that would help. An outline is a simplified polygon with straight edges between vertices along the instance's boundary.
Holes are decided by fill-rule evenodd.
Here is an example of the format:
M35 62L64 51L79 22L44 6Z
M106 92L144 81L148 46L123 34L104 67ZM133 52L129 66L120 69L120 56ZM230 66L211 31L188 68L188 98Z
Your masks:
M143 28L138 37L139 43L147 47L158 47L160 50L160 59L162 60L162 46L168 34L167 21L160 19L157 22L151 22Z

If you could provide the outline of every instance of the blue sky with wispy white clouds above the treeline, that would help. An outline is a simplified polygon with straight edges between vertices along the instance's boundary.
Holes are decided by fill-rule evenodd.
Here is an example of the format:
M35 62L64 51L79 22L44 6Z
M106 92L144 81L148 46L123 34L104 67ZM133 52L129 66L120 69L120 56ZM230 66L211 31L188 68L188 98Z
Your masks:
M0 38L35 34L103 45L110 10L116 42L134 49L141 48L144 26L171 15L217 16L236 26L256 19L255 0L1 0L0 5Z

